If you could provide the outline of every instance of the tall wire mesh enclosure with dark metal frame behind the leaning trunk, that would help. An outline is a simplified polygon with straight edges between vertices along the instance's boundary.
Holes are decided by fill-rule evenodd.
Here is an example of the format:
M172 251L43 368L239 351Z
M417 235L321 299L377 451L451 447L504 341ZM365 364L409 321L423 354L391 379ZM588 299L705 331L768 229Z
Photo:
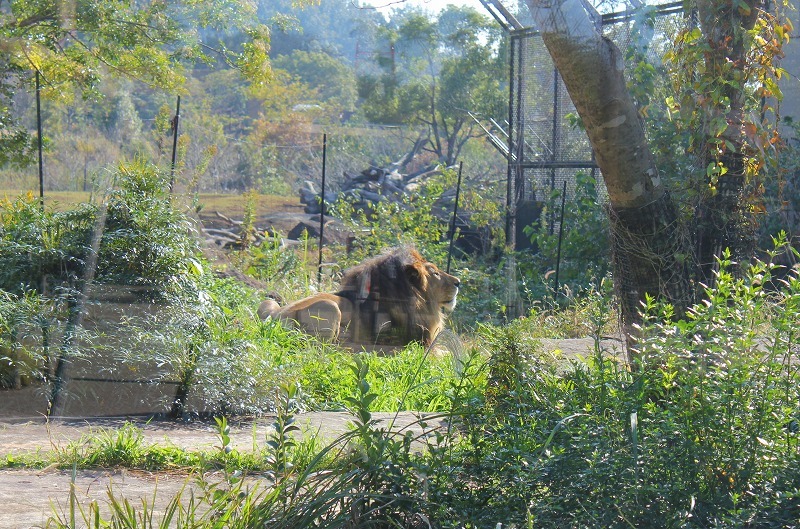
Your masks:
M525 240L522 227L529 225L540 210L536 204L553 192L566 190L569 207L578 171L589 171L596 177L600 196L604 195L604 186L589 140L535 28L527 2L482 3L508 32L510 41L509 114L502 132L507 145L510 206L506 233L519 247L518 242ZM606 14L594 10L588 2L585 7L627 59L646 58L654 64L670 32L686 23L680 2L644 5L636 1L623 11ZM558 218L547 221L551 233L557 230Z

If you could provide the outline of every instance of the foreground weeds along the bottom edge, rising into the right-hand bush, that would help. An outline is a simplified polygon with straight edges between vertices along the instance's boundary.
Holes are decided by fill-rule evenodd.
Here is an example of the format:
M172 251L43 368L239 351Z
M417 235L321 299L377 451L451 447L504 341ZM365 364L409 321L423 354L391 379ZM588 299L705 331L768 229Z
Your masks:
M631 368L602 349L607 312L566 368L528 320L481 327L446 392L448 426L425 435L373 419L372 358L356 356L351 430L287 464L299 393L285 388L272 478L248 491L227 460L231 479L204 485L220 491L202 500L215 514L182 527L796 527L800 280L773 280L768 263L729 269L684 320L644 307Z

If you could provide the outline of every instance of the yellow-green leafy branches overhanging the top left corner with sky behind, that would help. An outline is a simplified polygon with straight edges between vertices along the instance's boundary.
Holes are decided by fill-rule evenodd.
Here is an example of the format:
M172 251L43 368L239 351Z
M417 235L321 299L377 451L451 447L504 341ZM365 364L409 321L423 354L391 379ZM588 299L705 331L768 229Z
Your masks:
M2 6L0 64L0 166L24 164L30 138L17 123L12 97L39 72L44 95L70 95L67 87L97 95L106 74L125 75L150 86L176 90L185 65L222 60L257 82L269 77L269 30L256 21L252 3L93 2L88 0L11 0ZM238 28L241 47L205 41L199 28ZM207 34L210 35L210 34Z

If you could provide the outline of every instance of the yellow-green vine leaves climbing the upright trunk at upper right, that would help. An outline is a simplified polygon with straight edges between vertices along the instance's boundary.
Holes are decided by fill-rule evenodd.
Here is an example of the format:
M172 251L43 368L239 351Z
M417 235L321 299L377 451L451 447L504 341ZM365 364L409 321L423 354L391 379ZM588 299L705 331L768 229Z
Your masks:
M764 115L768 99L782 98L776 60L791 24L754 13L756 7L704 1L700 27L680 32L664 56L675 93L667 100L670 118L690 133L687 150L708 158L709 177L724 174L719 162L731 153L755 157L758 165L774 155L775 131Z

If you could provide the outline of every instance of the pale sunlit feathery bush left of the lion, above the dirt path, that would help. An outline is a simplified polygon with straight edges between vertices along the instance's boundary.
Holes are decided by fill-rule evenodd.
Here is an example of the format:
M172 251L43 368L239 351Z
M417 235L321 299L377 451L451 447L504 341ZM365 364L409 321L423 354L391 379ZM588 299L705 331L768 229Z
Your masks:
M182 399L165 403L173 415L191 413L190 390L203 409L220 414L272 409L280 366L269 352L297 342L274 322L260 322L257 306L252 292L235 281L203 275L157 312L126 322L128 340L115 351L117 365L160 366L156 380L178 381Z

